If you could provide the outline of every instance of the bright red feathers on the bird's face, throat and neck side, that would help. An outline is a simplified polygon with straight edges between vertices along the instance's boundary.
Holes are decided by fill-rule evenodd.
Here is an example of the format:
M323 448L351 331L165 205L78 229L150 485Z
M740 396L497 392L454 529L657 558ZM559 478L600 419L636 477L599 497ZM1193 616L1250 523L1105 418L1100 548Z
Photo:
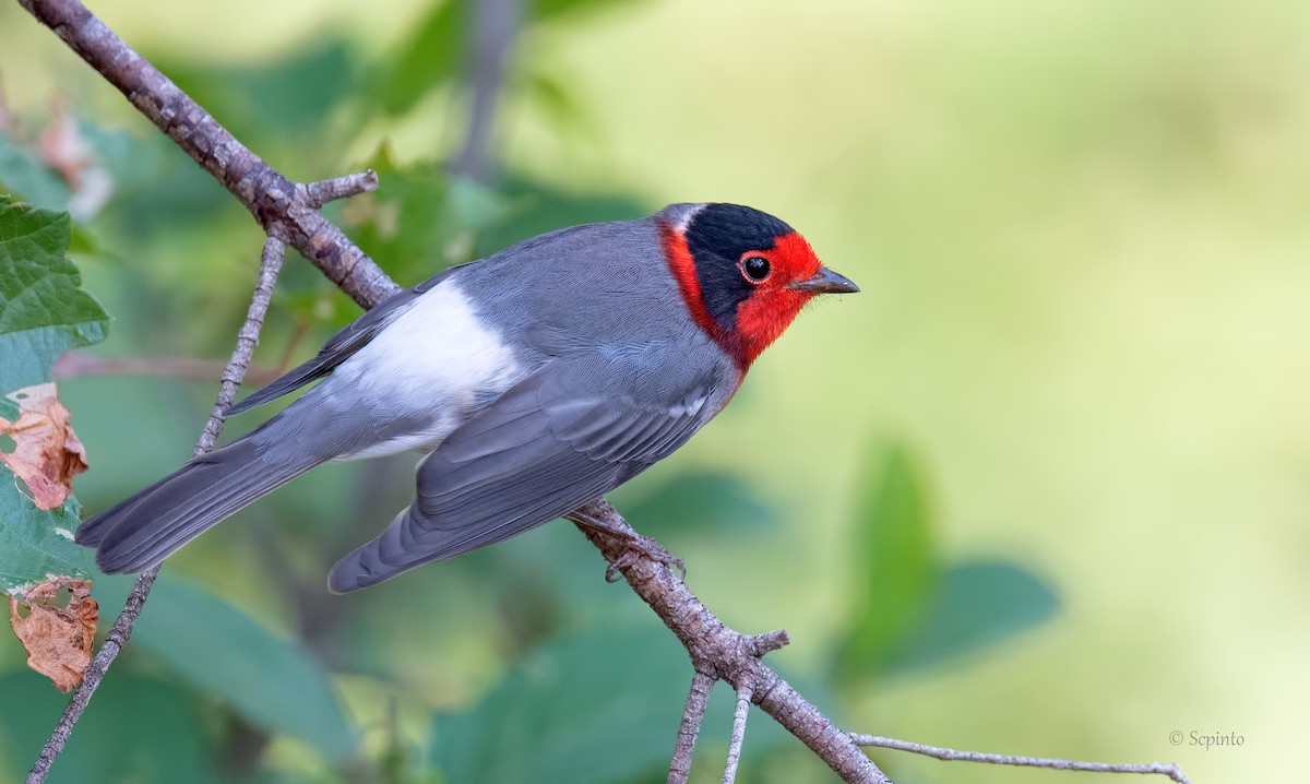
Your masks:
M774 241L773 248L749 253L768 258L774 271L738 305L734 329L723 329L705 308L696 260L686 245L686 236L673 225L660 223L660 237L668 269L692 320L732 358L743 374L815 296L786 287L815 275L820 265L804 237L795 232L785 235Z

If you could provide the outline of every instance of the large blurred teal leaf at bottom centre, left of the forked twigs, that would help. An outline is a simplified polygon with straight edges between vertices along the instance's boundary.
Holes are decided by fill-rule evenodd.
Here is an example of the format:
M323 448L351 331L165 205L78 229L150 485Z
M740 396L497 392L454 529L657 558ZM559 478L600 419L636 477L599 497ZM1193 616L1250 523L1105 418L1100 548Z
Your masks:
M690 682L686 653L664 629L558 640L472 711L438 713L432 762L447 781L590 784L648 775L668 764Z

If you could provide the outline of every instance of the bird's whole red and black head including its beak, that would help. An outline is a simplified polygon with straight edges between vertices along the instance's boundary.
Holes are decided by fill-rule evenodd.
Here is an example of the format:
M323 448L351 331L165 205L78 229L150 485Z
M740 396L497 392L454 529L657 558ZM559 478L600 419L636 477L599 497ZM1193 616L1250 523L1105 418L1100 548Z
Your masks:
M751 207L706 205L660 231L692 319L743 372L815 295L859 291L790 225Z

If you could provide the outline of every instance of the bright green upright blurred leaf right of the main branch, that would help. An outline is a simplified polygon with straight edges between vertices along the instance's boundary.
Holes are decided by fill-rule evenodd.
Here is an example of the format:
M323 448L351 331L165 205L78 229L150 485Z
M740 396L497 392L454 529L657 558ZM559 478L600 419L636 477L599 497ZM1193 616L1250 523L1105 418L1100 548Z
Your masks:
M892 447L855 517L852 555L863 583L857 586L859 610L838 650L844 676L880 670L922 624L939 569L925 485L908 450Z

